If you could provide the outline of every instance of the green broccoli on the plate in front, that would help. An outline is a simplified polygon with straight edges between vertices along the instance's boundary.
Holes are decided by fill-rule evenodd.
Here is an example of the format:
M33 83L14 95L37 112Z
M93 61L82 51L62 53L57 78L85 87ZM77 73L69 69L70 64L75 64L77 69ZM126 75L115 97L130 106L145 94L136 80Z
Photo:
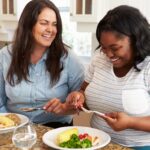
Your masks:
M80 140L78 135L72 134L70 140L59 144L63 148L89 148L92 147L92 142L89 139Z

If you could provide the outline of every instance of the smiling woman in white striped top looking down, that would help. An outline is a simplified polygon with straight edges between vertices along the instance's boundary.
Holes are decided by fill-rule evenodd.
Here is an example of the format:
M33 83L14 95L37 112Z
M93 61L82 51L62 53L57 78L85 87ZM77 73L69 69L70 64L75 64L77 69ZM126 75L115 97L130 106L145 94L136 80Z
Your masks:
M150 149L149 23L137 8L121 5L99 21L96 38L98 50L85 81L67 100L104 113L93 114L90 124L109 133L113 142Z

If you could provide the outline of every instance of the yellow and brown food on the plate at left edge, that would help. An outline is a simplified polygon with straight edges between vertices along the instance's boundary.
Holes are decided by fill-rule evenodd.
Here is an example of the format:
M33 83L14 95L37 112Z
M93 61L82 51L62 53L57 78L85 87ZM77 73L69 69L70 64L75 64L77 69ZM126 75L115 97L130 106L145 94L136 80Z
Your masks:
M21 119L16 114L8 114L0 116L0 128L8 128L17 126L21 123Z

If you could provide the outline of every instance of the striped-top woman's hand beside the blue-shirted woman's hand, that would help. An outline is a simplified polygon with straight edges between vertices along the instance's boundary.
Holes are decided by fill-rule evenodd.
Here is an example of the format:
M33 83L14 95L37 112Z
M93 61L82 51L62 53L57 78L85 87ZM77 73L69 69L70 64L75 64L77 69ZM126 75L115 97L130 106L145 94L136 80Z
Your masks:
M67 105L73 109L79 109L83 106L85 102L84 94L78 91L72 92L68 95L66 99Z

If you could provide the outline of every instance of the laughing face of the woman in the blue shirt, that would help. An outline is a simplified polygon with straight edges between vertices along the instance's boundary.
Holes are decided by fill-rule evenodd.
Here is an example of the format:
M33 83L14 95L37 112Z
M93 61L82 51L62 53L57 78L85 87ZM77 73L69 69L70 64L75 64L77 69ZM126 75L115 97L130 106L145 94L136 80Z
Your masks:
M39 14L32 32L35 39L35 47L49 47L57 34L55 12L50 8L44 8Z

